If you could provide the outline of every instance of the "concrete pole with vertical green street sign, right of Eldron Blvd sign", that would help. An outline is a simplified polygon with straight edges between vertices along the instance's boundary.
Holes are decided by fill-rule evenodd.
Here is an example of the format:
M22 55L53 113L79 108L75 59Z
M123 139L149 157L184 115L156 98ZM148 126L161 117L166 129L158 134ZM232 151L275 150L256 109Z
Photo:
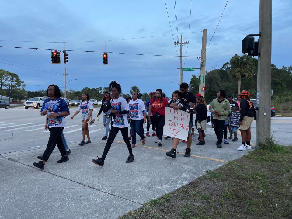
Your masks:
M200 65L200 85L199 85L199 93L202 96L205 96L205 91L203 91L203 87L205 87L206 82L206 46L207 46L207 29L203 30L202 36L202 50L201 50L201 65Z

